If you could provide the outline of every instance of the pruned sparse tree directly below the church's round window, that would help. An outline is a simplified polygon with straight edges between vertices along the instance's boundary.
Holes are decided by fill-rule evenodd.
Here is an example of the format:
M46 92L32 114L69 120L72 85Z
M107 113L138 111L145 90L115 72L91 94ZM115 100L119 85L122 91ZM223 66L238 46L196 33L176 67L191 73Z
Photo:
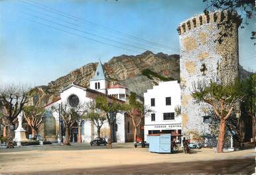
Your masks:
M52 108L52 110L56 110L56 108ZM64 123L64 127L66 129L65 131L65 139L64 139L64 145L70 146L70 132L72 125L78 121L84 118L84 110L83 106L79 104L76 107L71 107L68 104L60 104L60 116Z

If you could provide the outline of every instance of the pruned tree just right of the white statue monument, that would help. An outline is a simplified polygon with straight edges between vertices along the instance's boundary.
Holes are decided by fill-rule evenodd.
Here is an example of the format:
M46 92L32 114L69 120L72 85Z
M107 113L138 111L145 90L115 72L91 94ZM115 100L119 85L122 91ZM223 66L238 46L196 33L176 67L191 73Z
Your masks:
M46 110L37 106L24 106L23 111L25 120L32 129L32 137L36 137Z

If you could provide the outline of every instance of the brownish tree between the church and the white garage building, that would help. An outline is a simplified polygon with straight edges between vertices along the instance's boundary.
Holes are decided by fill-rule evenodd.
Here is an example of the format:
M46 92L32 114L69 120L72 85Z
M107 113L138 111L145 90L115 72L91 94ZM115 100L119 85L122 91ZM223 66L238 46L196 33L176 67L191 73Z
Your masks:
M137 128L141 125L141 122L143 122L145 116L147 116L151 110L136 100L135 92L131 92L129 96L129 104L126 108L127 113L131 117L131 121L133 123L133 141L136 142Z

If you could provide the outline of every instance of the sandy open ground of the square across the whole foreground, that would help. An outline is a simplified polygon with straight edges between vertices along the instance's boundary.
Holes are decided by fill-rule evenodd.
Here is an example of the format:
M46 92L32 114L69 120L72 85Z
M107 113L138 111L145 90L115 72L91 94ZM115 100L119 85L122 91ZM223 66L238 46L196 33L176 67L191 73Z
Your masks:
M221 154L193 149L185 155L149 153L132 143L114 144L113 149L88 144L0 148L0 174L247 174L254 167L254 149Z

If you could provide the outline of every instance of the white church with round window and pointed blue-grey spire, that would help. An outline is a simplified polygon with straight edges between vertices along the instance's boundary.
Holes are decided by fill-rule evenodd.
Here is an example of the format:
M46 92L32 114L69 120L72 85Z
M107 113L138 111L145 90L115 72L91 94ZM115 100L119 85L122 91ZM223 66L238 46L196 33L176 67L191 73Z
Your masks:
M46 105L45 108L50 109L51 106L58 107L60 104L68 104L72 107L76 107L78 104L86 104L86 102L90 102L90 100L95 100L97 95L105 95L107 98L109 98L109 100L125 102L129 94L129 90L121 85L109 87L109 80L105 76L103 65L101 62L99 62L97 65L96 73L90 81L90 88L82 87L72 83L68 87L61 90L60 98L58 100ZM58 139L60 139L60 135L64 135L64 126L61 123L61 120L59 120L60 115L58 112L52 112L49 114L49 116L54 118L50 121L55 120L56 122L56 135L58 135ZM115 125L113 127L113 141L122 143L129 140L127 137L132 138L131 129L127 129L127 127L131 126L127 125L127 121L129 121L129 119L127 119L126 114L117 114ZM105 132L107 132L108 128L109 125L106 121L101 127L101 131L105 130ZM105 133L105 135L107 135L107 133ZM95 137L97 137L97 127L90 121L76 121L76 123L74 123L71 128L70 141L72 142L89 143ZM54 141L54 137L50 138L46 135L44 135L44 139Z

